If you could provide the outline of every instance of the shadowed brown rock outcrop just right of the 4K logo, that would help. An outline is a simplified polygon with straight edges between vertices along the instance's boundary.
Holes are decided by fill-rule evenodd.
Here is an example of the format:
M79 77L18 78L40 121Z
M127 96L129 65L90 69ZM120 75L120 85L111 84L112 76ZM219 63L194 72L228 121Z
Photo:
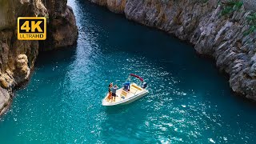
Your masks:
M52 50L73 45L78 38L73 10L66 5L66 0L43 1L50 15L46 42L41 42L40 50Z

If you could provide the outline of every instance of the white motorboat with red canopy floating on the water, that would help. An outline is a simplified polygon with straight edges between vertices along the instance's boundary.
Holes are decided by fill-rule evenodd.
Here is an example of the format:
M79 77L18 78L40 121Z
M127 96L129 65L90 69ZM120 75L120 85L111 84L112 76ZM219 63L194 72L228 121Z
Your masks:
M130 76L138 78L141 81L141 86L134 82L127 82L127 80L130 80ZM106 94L106 97L102 100L102 106L126 105L149 94L149 90L146 90L147 84L143 81L143 78L135 74L130 74L130 76L126 80L126 85L124 84L124 87L117 90L115 100L114 98L109 98L109 94Z

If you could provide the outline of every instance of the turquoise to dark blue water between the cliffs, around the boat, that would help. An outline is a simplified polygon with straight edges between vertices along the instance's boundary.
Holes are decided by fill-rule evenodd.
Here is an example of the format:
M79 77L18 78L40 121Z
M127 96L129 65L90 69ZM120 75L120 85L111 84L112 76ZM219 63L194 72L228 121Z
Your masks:
M0 122L1 143L255 143L255 106L192 46L121 15L69 2L78 45L40 54ZM106 108L109 82L141 75L150 94Z

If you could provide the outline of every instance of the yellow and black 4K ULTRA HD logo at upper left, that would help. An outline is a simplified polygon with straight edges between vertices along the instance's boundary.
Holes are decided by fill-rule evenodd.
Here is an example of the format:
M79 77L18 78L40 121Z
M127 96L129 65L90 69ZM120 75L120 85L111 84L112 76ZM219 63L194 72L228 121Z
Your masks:
M19 17L18 40L45 40L45 17Z

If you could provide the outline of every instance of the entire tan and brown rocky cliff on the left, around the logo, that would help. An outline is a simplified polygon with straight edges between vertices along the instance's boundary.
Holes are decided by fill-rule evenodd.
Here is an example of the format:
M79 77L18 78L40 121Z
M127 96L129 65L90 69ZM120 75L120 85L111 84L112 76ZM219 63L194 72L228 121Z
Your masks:
M17 18L43 16L48 20L46 41L19 41ZM0 114L11 102L15 86L26 82L39 50L70 46L78 30L66 0L0 0Z

